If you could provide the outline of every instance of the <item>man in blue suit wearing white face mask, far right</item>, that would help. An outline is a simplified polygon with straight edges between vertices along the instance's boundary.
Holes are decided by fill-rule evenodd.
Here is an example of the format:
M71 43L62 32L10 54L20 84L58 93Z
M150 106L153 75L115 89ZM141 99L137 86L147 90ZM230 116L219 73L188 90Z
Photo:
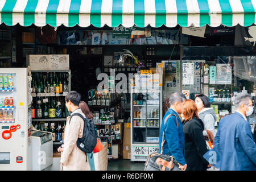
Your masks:
M221 171L254 171L256 145L246 119L254 110L250 94L239 93L234 105L236 112L221 119L214 147L204 158Z

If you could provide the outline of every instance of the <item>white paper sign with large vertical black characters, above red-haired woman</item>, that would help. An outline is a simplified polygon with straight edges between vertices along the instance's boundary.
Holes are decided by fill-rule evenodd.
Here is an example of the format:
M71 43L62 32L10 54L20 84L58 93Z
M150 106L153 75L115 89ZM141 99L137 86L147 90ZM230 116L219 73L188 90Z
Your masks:
M194 63L182 64L182 84L193 85L194 84Z

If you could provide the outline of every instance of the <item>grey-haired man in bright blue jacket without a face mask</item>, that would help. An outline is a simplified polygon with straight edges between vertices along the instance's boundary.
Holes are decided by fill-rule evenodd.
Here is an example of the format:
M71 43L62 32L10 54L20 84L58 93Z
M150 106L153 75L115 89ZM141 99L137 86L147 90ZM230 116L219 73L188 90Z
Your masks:
M171 115L170 117L168 117L165 124L164 122L162 122L159 137L159 152L161 152L161 143L164 132L165 142L163 144L162 154L174 156L177 162L181 164L180 168L184 170L187 168L187 163L185 162L184 159L184 133L179 114L183 113L186 100L186 97L182 93L175 92L171 94L171 106L164 115L163 121L170 114L175 114L177 117L177 121L176 117L174 115Z

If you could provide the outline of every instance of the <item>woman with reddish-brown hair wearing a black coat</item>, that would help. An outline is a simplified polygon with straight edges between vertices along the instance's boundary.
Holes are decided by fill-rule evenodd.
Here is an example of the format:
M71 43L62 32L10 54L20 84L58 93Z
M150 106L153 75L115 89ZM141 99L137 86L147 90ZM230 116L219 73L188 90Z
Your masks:
M183 131L185 138L185 161L187 171L206 171L209 166L203 155L208 151L203 135L204 123L197 114L197 107L194 101L185 102L183 113Z

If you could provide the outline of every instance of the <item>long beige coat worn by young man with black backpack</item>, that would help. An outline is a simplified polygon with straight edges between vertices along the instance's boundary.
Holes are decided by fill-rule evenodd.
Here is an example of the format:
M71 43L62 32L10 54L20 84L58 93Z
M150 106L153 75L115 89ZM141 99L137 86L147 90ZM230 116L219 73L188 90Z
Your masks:
M80 113L84 117L81 109L73 111L74 113ZM71 115L72 115L71 114ZM89 160L83 151L81 151L77 145L77 138L82 137L82 132L84 130L84 120L75 115L72 117L72 122L69 123L69 118L67 118L67 124L65 127L65 138L64 138L64 150L61 152L60 162L64 164L64 171L90 171Z

